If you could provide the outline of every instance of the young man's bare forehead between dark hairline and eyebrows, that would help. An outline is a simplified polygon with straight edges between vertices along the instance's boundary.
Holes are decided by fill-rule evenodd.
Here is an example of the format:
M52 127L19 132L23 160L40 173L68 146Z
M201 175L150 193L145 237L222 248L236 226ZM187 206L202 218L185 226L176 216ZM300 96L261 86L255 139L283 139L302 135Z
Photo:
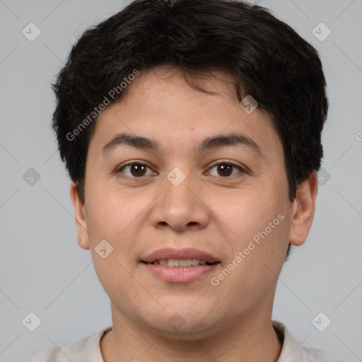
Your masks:
M194 151L206 134L241 132L257 144L276 146L279 140L269 116L259 109L251 114L243 111L234 83L223 71L185 78L180 69L170 66L146 69L127 85L120 102L101 112L93 138L99 141L98 148L104 148L119 133L151 134L161 149L192 144Z

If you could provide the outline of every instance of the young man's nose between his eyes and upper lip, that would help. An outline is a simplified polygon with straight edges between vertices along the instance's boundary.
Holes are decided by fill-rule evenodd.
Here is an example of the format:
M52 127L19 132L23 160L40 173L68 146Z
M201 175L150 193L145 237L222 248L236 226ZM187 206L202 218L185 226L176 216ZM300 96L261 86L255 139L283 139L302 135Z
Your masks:
M161 186L163 192L153 205L153 227L173 228L177 231L205 228L209 223L211 211L206 205L201 185L197 185L191 175L187 175L180 185L170 180L164 180Z

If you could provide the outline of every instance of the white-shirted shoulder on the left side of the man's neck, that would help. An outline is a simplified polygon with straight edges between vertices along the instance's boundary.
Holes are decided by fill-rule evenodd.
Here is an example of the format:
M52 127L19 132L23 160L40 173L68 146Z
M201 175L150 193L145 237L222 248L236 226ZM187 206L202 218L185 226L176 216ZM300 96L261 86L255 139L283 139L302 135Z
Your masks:
M45 349L21 362L103 362L99 341L110 328L71 344Z

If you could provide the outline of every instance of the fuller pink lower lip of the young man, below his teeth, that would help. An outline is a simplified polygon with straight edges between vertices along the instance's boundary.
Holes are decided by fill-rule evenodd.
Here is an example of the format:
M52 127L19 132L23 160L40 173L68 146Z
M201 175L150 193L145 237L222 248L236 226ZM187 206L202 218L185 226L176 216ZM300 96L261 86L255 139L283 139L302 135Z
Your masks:
M187 283L213 271L219 263L194 265L194 267L165 267L160 264L144 264L151 273L170 283Z

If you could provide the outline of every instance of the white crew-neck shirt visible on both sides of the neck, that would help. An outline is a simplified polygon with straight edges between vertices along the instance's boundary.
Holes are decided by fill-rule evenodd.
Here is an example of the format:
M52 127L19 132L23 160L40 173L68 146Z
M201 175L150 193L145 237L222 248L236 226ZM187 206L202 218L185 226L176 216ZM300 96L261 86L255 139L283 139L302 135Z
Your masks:
M301 346L281 322L273 320L272 324L281 339L284 338L277 362L337 362L320 349ZM111 329L112 327L107 327L98 334L85 337L73 344L45 349L23 362L104 362L100 353L100 339Z

